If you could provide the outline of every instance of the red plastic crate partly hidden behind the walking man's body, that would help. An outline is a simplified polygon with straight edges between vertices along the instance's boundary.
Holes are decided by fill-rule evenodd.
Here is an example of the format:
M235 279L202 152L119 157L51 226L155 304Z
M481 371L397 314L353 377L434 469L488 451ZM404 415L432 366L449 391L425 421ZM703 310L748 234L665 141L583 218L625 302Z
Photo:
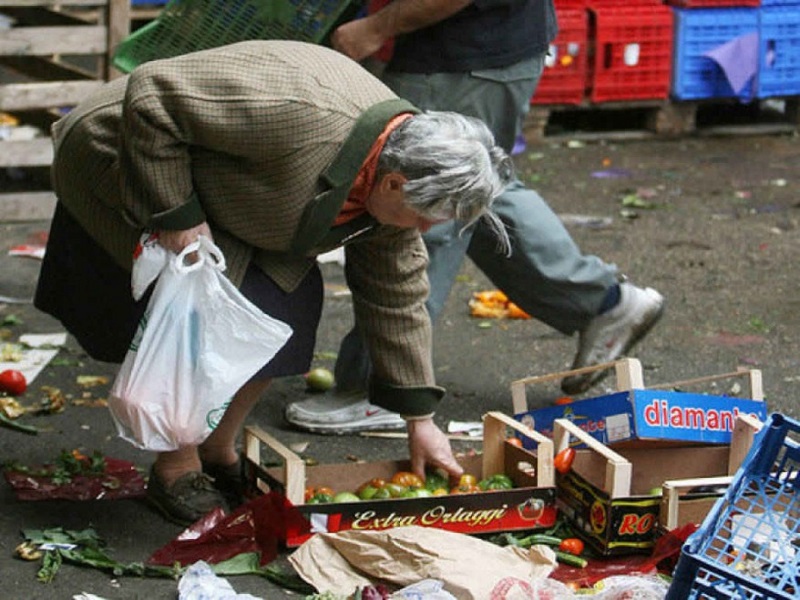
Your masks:
M589 14L558 9L558 27L531 104L580 104L586 96Z

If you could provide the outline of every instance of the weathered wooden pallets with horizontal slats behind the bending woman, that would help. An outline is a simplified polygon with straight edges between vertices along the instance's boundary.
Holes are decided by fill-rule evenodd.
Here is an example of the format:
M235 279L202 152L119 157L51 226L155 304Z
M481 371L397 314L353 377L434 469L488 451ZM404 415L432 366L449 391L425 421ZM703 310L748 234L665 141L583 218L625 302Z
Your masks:
M110 57L129 11L129 0L0 0L0 169L50 166L50 126L118 75ZM50 217L49 186L3 187L0 220Z

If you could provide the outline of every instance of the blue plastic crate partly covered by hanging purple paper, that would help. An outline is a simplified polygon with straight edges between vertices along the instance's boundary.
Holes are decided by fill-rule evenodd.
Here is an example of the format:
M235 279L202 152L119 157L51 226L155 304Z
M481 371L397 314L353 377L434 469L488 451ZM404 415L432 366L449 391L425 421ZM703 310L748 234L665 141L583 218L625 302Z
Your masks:
M758 8L675 8L672 96L678 100L735 98L720 66L705 52L758 31Z

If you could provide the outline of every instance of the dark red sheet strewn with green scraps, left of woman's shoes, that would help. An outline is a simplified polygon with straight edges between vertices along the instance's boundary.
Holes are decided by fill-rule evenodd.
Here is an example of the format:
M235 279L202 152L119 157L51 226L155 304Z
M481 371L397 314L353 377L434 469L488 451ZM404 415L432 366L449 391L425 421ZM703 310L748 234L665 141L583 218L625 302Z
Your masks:
M145 493L144 477L133 463L99 451L62 450L38 466L8 462L3 475L18 500L118 500Z

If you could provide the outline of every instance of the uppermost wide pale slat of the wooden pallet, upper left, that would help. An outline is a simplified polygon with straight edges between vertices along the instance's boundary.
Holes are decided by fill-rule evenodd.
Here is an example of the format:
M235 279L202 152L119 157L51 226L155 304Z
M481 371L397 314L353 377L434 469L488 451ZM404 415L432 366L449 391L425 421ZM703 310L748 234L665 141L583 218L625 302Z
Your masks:
M0 31L0 54L98 54L107 49L104 25L21 27Z

